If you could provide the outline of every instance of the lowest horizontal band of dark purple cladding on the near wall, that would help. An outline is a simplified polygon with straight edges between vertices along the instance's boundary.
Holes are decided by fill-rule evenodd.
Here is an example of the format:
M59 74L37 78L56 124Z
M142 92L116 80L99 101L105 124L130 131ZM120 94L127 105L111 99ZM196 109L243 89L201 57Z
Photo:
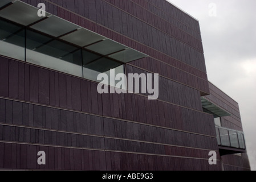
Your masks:
M131 154L112 151L93 151L76 148L2 143L1 169L83 170L83 171L172 171L220 170L221 163L209 165L207 159L173 158L170 156ZM46 154L46 164L38 165L38 151Z

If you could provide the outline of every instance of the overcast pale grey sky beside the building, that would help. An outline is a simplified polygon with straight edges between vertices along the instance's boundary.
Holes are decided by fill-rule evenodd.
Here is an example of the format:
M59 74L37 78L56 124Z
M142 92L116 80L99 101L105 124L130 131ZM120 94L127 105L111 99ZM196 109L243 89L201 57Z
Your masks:
M168 1L199 20L209 81L238 102L250 166L255 171L256 1ZM216 5L216 14L212 5Z

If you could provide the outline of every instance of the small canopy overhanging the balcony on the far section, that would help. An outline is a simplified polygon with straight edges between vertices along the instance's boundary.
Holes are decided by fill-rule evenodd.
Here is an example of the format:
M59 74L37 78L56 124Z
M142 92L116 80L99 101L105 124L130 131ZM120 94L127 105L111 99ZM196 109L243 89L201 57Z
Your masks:
M212 102L206 100L204 97L201 97L202 107L211 113L218 115L219 117L225 117L231 115L227 111L221 109L220 107L214 105Z

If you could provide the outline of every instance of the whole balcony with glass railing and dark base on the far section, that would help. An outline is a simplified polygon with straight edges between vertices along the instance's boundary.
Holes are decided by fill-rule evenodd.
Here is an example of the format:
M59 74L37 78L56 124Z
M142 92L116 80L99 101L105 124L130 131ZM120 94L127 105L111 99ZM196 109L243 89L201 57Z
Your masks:
M246 152L243 132L216 126L216 134L221 155Z

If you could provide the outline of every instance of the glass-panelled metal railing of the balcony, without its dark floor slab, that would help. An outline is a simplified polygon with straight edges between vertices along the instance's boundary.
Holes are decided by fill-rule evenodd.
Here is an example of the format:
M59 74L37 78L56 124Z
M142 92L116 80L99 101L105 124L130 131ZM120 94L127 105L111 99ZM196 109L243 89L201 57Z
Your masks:
M243 132L216 126L219 146L246 149Z

